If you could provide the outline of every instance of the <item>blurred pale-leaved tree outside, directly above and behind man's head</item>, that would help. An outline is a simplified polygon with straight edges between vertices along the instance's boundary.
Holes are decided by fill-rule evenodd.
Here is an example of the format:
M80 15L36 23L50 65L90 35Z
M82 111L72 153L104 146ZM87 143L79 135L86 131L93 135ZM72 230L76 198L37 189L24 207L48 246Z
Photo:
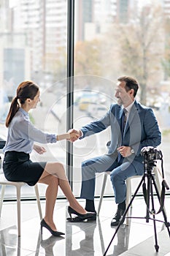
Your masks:
M140 102L144 105L147 103L148 80L153 73L158 73L158 63L161 62L161 18L158 9L146 8L135 23L118 24L121 69L139 80Z

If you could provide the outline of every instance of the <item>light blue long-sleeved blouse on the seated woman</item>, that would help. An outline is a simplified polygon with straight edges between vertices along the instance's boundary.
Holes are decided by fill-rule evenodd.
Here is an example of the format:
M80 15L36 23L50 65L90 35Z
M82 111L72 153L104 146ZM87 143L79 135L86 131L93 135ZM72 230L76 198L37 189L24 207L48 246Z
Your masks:
M36 129L31 123L28 113L23 108L19 108L9 124L4 152L22 151L30 154L34 141L43 144L56 143L56 136Z

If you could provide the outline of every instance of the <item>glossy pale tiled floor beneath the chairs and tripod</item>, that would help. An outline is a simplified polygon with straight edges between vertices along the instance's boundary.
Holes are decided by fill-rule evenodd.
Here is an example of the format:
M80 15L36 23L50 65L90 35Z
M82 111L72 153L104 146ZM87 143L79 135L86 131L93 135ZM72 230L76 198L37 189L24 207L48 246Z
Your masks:
M45 201L42 201L42 211L45 212ZM82 206L84 201L80 200ZM159 203L154 199L155 209ZM168 222L170 220L170 197L165 200ZM55 223L58 230L66 233L65 236L54 237L45 228L41 236L39 214L34 201L21 203L21 236L18 238L16 226L16 203L4 203L0 219L0 255L1 256L101 256L104 255L111 241L116 227L110 222L116 206L112 198L104 198L100 217L96 222L69 223L66 222L68 203L66 200L57 200L55 206ZM96 199L96 208L98 199ZM129 226L121 225L113 239L107 255L128 256L162 256L170 255L170 238L168 230L163 230L163 223L156 222L156 234L160 246L155 252L155 236L152 219L146 222L146 204L143 197L136 197L131 209L132 217ZM164 220L163 214L156 219Z

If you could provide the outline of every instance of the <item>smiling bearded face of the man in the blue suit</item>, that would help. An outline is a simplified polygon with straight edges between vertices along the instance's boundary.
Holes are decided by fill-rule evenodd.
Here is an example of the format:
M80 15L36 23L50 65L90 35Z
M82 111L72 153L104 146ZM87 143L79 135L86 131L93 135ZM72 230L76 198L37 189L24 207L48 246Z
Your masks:
M117 104L127 107L134 101L134 90L125 91L125 81L118 81L115 89L115 97L117 97Z

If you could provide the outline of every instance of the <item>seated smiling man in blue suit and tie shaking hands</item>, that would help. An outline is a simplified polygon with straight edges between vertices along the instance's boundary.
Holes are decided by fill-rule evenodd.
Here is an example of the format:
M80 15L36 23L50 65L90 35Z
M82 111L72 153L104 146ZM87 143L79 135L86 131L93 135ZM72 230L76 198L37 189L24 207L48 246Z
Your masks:
M141 155L141 149L145 146L156 147L161 143L161 132L152 109L136 102L138 89L139 83L136 79L128 76L118 78L115 91L117 104L112 104L106 115L99 120L81 129L74 129L82 139L111 127L108 153L82 162L80 195L81 198L86 199L86 211L95 211L96 173L111 171L110 179L115 192L115 203L117 203L117 212L111 226L119 224L125 211L126 178L143 174L144 158ZM81 221L81 219L76 217L74 221Z

